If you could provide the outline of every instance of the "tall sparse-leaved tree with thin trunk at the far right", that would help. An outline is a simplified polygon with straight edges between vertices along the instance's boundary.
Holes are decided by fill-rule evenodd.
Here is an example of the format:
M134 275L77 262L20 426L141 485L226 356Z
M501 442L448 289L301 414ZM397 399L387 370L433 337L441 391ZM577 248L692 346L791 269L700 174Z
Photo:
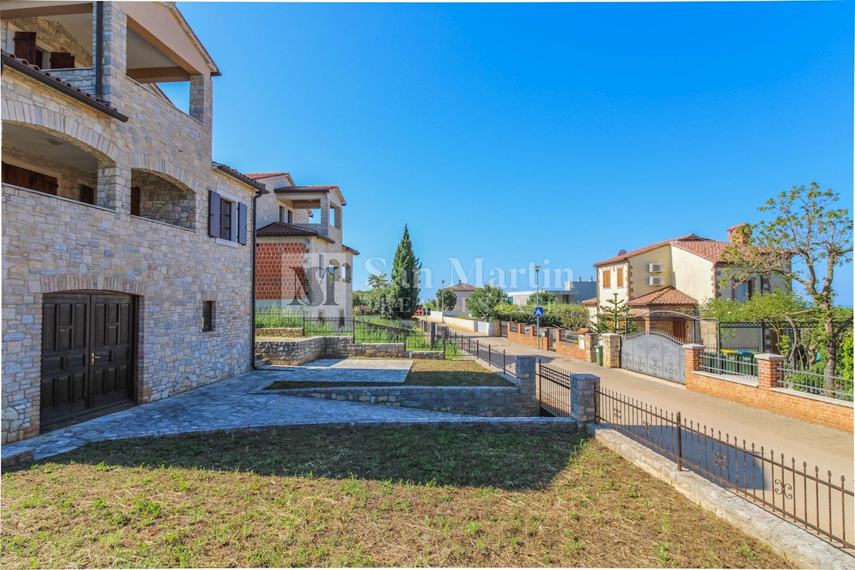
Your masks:
M746 226L745 243L731 245L722 256L733 266L729 276L737 280L776 274L805 288L822 323L827 388L834 387L838 345L846 332L835 325L834 269L852 261L852 217L849 210L834 207L839 200L839 194L821 190L816 182L782 191L758 208L774 217Z

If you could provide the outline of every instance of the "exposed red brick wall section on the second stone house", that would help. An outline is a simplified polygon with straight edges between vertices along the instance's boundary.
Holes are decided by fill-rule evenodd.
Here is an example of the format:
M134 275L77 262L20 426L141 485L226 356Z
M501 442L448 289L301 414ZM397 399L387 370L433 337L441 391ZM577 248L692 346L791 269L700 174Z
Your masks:
M258 299L304 299L305 244L258 243L256 247L256 286Z

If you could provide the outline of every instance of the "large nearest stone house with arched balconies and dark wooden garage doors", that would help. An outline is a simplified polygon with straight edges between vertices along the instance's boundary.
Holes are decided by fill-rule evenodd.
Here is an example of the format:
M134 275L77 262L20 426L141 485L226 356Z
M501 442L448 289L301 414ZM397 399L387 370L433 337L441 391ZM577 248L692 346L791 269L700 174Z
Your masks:
M251 369L254 197L174 3L2 2L3 443ZM158 83L189 84L189 114Z

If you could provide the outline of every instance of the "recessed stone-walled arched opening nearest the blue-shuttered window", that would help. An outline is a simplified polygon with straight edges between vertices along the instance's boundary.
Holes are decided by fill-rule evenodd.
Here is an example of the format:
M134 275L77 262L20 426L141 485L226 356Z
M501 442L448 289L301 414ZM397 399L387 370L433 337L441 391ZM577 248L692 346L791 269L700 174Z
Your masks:
M189 188L141 170L131 171L131 186L139 187L140 216L196 229L196 199Z

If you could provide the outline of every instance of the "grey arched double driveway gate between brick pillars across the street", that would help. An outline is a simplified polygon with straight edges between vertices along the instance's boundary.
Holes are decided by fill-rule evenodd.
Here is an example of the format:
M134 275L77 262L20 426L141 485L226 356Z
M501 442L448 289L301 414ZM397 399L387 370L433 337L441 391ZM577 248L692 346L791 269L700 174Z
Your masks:
M638 332L622 338L621 367L686 384L686 351L664 332Z

